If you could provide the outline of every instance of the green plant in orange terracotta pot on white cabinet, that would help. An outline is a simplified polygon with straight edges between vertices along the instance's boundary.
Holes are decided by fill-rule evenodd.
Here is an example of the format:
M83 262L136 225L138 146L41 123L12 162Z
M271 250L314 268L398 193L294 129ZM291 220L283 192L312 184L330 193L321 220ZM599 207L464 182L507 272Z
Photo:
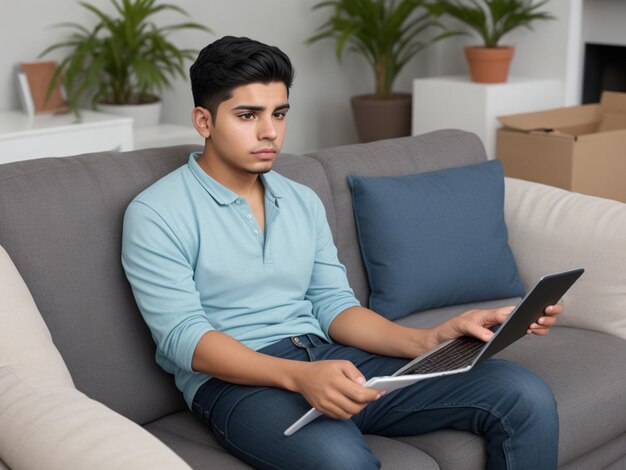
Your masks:
M548 0L436 0L431 10L446 14L469 26L480 35L482 46L467 46L465 56L472 81L506 82L513 58L513 46L499 46L502 37L514 29L531 29L531 23L554 19L539 11Z

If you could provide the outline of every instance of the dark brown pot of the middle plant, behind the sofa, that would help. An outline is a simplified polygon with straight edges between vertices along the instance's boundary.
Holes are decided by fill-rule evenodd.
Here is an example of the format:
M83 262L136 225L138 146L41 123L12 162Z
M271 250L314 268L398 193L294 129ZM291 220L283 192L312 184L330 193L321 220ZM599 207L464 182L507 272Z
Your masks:
M411 135L410 93L394 93L391 98L374 95L352 97L352 113L359 142Z

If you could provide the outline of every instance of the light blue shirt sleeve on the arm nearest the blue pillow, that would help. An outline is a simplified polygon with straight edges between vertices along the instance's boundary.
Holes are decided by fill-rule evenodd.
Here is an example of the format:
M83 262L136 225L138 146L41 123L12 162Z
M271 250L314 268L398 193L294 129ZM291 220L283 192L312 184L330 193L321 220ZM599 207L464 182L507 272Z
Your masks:
M324 205L317 196L315 201L315 262L305 298L313 305L313 315L330 338L328 329L337 315L347 308L359 306L360 303L348 284L346 268L337 257L337 248L328 226Z

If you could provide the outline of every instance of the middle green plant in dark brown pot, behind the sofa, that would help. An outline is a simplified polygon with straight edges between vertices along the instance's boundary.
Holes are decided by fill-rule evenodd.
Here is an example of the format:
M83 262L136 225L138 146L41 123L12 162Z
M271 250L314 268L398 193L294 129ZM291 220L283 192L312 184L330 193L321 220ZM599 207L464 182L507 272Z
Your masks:
M411 133L411 95L394 93L404 66L427 46L451 34L435 20L422 0L330 0L313 9L332 8L308 44L334 39L342 60L346 48L362 55L375 78L375 93L351 100L361 142ZM427 36L433 30L439 34Z

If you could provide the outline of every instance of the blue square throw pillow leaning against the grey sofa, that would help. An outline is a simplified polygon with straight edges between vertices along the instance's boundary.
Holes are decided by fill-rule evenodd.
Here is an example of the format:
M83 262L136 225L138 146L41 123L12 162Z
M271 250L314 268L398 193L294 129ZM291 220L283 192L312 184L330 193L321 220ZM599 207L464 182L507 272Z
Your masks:
M393 320L524 295L508 243L499 160L348 178L372 310Z

